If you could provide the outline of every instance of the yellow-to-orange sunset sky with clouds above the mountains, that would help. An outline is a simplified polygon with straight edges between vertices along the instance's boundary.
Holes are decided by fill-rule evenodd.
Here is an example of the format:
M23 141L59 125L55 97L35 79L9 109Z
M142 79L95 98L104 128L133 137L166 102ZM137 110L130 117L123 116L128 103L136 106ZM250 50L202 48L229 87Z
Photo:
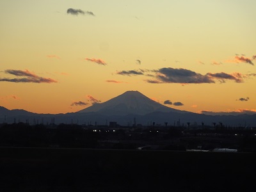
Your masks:
M0 106L68 113L138 90L256 111L255 0L1 0Z

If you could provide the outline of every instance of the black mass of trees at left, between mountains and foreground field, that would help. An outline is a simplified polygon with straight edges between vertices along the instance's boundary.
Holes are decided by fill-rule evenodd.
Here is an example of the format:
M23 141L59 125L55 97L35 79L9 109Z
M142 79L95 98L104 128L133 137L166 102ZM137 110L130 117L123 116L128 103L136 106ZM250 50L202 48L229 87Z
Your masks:
M60 124L52 128L43 124L3 124L1 147L74 147L97 148L98 132L86 131L81 125Z

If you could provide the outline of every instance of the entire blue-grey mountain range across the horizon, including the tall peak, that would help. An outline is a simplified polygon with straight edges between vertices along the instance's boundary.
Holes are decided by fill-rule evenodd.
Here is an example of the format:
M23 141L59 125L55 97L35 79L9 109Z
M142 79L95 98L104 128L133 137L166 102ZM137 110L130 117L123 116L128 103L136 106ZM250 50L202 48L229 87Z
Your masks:
M137 91L128 91L122 95L110 99L106 102L93 104L76 113L66 114L37 114L24 111L22 109L9 110L0 106L0 124L2 122L29 122L29 124L92 124L108 125L109 122L117 122L120 125L186 125L191 126L212 125L213 122L230 126L256 126L256 115L204 115L180 111L168 108L158 102L149 99Z

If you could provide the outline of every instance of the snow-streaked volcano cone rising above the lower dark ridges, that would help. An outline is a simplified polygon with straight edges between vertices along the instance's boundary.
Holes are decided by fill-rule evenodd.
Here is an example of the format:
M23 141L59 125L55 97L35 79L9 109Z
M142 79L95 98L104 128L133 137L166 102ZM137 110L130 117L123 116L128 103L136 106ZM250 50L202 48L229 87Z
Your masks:
M127 91L113 99L94 104L93 106L85 108L79 112L98 112L105 115L145 115L155 111L178 112L179 110L163 106L138 91Z

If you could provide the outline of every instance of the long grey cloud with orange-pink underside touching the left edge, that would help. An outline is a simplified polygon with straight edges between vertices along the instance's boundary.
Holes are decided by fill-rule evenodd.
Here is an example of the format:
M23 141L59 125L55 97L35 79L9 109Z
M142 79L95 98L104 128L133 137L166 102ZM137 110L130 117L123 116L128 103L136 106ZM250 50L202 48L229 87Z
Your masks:
M0 78L0 81L7 81L13 83L57 83L55 79L45 78L37 76L29 70L12 70L8 69L4 71L6 74L12 74L13 76L22 77L22 78Z

